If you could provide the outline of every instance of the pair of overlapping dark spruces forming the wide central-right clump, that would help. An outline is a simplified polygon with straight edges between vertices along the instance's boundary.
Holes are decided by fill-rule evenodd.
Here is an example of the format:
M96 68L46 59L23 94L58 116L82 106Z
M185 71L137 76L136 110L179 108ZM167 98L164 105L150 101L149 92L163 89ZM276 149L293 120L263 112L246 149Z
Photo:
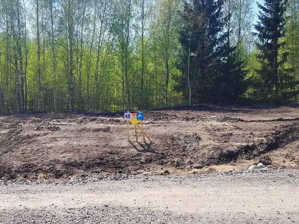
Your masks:
M231 14L224 18L223 1L185 2L184 27L180 42L184 47L182 71L186 98L236 101L246 90L244 62L237 60L236 46L230 43Z

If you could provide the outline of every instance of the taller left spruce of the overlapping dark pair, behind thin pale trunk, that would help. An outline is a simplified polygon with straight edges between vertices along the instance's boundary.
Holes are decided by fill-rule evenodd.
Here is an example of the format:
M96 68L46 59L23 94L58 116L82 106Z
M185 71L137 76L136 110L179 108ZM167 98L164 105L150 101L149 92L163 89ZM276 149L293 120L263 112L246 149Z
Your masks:
M191 0L185 2L181 12L184 23L180 35L184 47L181 69L185 74L181 90L192 88L192 98L197 101L214 96L216 48L223 28L222 5L223 0ZM187 92L186 96L190 96L190 91Z

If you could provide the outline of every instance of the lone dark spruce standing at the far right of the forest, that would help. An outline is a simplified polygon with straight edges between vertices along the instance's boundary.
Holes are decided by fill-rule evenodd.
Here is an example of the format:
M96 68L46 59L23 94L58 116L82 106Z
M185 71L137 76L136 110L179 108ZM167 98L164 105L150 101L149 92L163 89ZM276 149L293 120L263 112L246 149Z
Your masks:
M264 98L277 100L283 91L295 85L291 69L285 66L288 52L282 51L286 45L282 38L286 33L287 0L265 0L264 6L257 5L259 22L254 26L257 30L254 34L259 41L256 45L261 63L257 73L263 82L258 85Z

